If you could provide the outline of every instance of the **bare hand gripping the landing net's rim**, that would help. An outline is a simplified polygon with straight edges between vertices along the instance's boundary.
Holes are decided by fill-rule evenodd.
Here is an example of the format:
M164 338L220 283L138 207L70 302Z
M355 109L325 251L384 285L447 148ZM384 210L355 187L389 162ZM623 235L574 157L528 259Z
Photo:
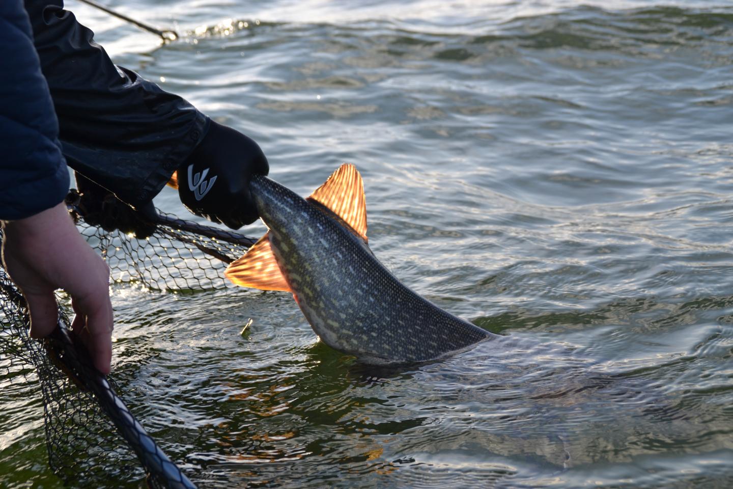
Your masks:
M51 334L58 322L54 290L71 296L72 328L86 343L95 367L108 374L112 358L109 268L81 237L66 205L4 222L2 260L26 298L31 336Z

